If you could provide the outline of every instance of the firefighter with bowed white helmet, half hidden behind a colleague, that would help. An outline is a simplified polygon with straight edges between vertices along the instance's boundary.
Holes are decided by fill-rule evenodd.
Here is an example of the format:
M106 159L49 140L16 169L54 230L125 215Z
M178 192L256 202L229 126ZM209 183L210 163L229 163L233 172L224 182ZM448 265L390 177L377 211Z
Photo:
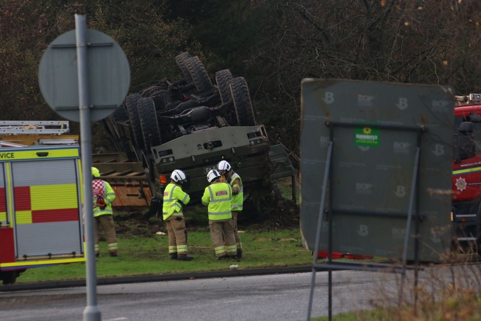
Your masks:
M242 179L239 174L235 173L231 164L222 160L217 164L217 171L222 175L226 182L232 187L232 219L234 220L234 237L237 244L237 257L242 257L242 242L237 230L237 218L242 211L242 203L244 201L244 186L242 185Z

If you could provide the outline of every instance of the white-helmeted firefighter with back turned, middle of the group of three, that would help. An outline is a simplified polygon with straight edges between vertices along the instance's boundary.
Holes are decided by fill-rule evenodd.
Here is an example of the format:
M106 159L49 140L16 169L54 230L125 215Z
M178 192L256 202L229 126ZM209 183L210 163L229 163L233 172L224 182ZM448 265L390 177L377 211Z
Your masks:
M232 189L220 181L217 170L210 170L207 180L210 183L202 196L202 204L208 205L210 238L214 246L215 257L237 258L236 239L234 238L234 221L231 213Z

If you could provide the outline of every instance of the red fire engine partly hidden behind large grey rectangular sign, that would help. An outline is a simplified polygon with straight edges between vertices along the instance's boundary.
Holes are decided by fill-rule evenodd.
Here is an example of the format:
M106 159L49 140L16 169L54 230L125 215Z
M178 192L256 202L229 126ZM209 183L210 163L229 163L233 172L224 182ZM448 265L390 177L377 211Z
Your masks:
M481 242L481 94L455 96L452 161L453 235L460 242Z

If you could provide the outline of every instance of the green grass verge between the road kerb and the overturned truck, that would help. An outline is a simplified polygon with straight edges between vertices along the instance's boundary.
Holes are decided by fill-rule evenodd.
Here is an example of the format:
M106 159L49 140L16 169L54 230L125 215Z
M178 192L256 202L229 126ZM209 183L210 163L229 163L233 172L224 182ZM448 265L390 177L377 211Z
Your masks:
M215 259L208 231L189 232L189 254L194 260L171 260L168 255L168 236L119 236L120 257L109 257L106 243L101 242L101 256L97 259L97 276L118 277L145 274L218 271L239 268L260 268L307 265L312 263L310 251L302 246L299 229L271 231L245 230L241 233L244 252L240 262ZM85 279L85 264L56 265L27 269L17 283Z

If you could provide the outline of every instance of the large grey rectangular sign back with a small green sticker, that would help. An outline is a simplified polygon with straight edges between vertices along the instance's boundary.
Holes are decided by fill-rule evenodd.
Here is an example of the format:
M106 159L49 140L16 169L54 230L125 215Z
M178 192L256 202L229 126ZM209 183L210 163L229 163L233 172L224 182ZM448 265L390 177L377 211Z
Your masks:
M314 250L315 246L332 128L332 181L328 185L332 191L326 198L326 209L332 211L333 251L402 257L418 144L416 131L403 128L423 128L418 190L422 218L419 259L439 260L450 243L453 108L454 97L448 87L305 79L301 233L306 247ZM327 249L326 216L322 223L322 250ZM413 226L414 219L411 235ZM413 259L413 244L411 237L408 259Z

